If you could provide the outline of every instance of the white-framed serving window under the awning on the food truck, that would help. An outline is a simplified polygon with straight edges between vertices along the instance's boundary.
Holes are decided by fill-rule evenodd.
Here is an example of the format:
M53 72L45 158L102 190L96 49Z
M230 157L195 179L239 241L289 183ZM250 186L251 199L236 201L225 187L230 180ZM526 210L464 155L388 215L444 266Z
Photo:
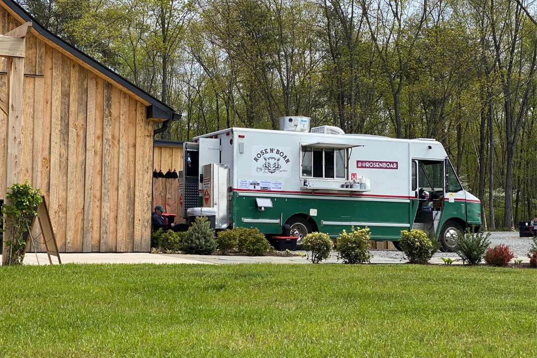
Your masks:
M347 179L347 149L304 147L302 177Z

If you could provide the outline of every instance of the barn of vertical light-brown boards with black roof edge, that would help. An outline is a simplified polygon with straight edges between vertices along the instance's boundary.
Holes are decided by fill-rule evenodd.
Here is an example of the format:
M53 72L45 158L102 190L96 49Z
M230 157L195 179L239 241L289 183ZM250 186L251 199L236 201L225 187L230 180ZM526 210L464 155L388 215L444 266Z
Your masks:
M0 5L0 33L32 21L23 56L0 62L0 94L11 96L0 112L0 199L13 182L40 188L60 252L149 251L154 124L178 115L16 2ZM17 90L8 76L21 61Z

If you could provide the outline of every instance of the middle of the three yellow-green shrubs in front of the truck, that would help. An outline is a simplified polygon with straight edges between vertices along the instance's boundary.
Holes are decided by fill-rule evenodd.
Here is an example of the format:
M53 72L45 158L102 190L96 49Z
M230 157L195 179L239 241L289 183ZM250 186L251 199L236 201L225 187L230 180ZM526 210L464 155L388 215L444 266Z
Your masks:
M347 233L343 230L337 240L338 260L343 259L345 264L363 264L373 257L369 252L369 229L354 230Z

